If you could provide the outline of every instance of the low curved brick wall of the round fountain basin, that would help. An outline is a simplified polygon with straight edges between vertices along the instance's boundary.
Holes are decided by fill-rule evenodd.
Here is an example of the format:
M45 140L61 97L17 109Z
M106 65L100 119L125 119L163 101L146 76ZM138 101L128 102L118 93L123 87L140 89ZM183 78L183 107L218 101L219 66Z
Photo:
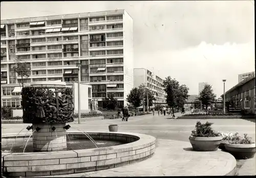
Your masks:
M3 172L7 176L44 176L89 172L119 167L150 158L156 147L156 138L140 133L88 132L95 140L125 141L126 144L68 151L2 153ZM82 132L67 131L70 138L86 139ZM2 135L2 140L16 134ZM20 133L18 138L25 137Z

